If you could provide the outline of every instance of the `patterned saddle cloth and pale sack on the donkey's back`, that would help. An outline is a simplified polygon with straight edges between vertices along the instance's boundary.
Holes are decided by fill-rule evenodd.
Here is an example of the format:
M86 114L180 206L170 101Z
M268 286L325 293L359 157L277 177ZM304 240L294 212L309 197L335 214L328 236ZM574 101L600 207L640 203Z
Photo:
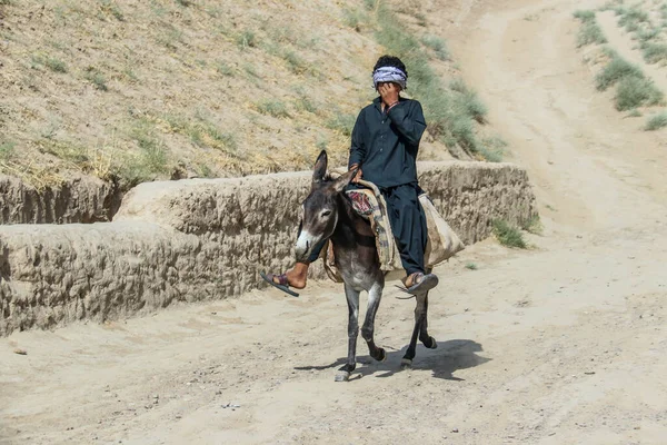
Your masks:
M332 178L336 178L344 172L345 170L337 169L331 171L330 175ZM352 208L370 222L370 227L376 234L380 269L387 273L402 269L400 254L396 247L389 217L387 216L385 198L372 182L360 179L357 185L364 188L347 190L346 194L352 202ZM424 263L427 268L432 268L451 258L455 254L465 249L466 246L440 216L426 192L419 195L419 202L426 214L428 227L428 240ZM327 247L322 249L321 257L323 258L325 270L329 278L336 283L342 283L342 277L336 267L331 243L327 241Z

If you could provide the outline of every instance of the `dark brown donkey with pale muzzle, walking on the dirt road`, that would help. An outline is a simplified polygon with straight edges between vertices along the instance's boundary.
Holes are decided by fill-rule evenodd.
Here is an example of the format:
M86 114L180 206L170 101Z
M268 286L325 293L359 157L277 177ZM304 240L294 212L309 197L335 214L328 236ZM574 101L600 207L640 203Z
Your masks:
M334 246L336 267L345 281L345 296L348 303L348 358L338 370L336 382L347 382L357 367L357 336L359 334L359 294L368 293L368 308L361 327L361 336L368 345L369 354L378 362L387 358L384 348L374 342L375 317L382 298L386 271L380 269L375 234L369 221L359 216L345 194L357 170L348 171L337 179L327 172L327 152L322 150L312 172L310 195L303 201L303 218L299 233L296 256L306 260L312 248L329 239ZM417 338L427 348L438 345L427 330L428 293L415 295L415 329L410 345L402 357L401 367L409 368L415 358Z

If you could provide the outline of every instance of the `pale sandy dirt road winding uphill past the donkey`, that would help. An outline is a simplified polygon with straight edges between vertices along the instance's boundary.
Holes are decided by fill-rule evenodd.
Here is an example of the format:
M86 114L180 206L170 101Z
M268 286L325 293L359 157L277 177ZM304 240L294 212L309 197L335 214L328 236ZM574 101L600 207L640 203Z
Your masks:
M19 333L0 340L0 443L667 443L665 135L595 91L571 12L600 2L479 3L461 2L450 46L545 230L528 251L487 240L436 270L437 349L399 370L414 306L389 286L387 362L360 342L335 383L347 308L332 283Z

